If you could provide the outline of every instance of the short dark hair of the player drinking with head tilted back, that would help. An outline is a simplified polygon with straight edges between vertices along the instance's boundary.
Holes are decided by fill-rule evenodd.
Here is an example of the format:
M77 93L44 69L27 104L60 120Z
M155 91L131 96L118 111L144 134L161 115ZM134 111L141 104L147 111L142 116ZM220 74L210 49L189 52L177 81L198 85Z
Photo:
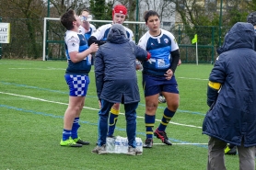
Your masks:
M73 29L73 21L76 21L75 11L73 9L69 9L64 15L61 17L61 23L67 30Z

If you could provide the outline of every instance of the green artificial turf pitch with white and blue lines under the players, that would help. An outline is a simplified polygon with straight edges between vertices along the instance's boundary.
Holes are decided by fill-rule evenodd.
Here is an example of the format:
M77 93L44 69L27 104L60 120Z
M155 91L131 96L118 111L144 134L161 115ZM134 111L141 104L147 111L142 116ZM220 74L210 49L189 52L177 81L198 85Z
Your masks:
M180 107L167 128L172 146L154 138L154 146L140 156L90 151L98 138L98 97L94 68L90 73L85 108L80 117L79 136L90 143L82 148L59 145L68 87L64 81L66 62L0 60L0 170L86 169L86 170L203 170L207 162L208 137L202 123L208 109L206 87L211 64L182 63L176 70ZM137 72L141 101L137 108L137 137L145 140L145 100ZM166 104L159 104L155 128ZM123 106L121 107L123 113ZM120 114L115 135L126 136ZM227 170L239 169L238 155L226 155Z

